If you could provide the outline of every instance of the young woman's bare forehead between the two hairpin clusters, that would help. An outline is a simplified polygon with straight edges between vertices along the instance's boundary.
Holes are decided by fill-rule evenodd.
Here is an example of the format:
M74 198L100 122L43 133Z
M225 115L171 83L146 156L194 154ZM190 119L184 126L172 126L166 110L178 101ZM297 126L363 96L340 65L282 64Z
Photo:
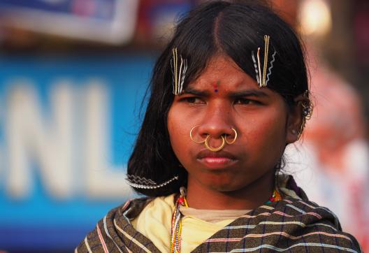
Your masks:
M203 73L189 83L191 89L211 89L219 85L222 89L259 88L256 80L245 73L230 57L213 57Z

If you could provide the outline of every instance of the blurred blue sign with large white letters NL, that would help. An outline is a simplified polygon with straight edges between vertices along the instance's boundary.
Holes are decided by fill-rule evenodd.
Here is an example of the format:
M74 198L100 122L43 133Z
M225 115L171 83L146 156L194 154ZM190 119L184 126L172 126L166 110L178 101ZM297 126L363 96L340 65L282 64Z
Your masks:
M0 250L73 250L132 192L152 57L0 57Z

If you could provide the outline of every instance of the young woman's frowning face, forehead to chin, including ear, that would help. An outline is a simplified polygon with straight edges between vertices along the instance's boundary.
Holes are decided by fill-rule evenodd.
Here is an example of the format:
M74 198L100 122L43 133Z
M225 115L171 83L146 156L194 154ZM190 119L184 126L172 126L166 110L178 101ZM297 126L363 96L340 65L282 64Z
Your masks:
M274 70L277 71L277 70ZM273 81L273 76L271 77ZM222 136L236 142L219 152L194 143L208 135L219 147ZM259 88L229 57L215 57L168 113L171 145L190 182L217 191L236 191L273 173L287 143L296 140L298 123L280 94ZM272 182L270 182L272 183Z

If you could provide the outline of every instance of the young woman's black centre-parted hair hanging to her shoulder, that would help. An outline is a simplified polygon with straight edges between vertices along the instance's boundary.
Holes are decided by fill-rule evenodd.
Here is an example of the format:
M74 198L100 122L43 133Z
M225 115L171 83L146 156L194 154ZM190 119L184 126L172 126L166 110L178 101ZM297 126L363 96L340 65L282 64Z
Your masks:
M201 75L215 55L227 55L256 80L252 51L270 36L270 52L277 52L268 88L279 93L289 108L296 96L308 90L301 43L295 32L273 10L259 1L210 1L191 10L178 23L173 38L154 66L150 99L138 133L127 174L154 180L157 184L179 176L164 187L136 189L147 196L166 196L187 185L187 171L173 152L167 127L173 103L172 49L188 61L184 89ZM263 50L261 50L261 59Z

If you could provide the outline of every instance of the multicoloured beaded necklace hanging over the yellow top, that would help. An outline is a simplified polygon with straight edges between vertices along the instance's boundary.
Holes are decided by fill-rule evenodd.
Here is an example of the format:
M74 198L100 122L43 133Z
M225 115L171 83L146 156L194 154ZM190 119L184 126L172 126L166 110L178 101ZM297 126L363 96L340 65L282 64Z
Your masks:
M180 213L180 206L189 207L186 200L186 189L184 187L180 187L180 196L177 201L175 201L175 208L172 217L172 228L171 228L171 253L180 253L181 242L181 232L182 232L182 219ZM272 203L274 201L282 200L282 196L275 189L273 191L273 195L270 196L266 204Z

